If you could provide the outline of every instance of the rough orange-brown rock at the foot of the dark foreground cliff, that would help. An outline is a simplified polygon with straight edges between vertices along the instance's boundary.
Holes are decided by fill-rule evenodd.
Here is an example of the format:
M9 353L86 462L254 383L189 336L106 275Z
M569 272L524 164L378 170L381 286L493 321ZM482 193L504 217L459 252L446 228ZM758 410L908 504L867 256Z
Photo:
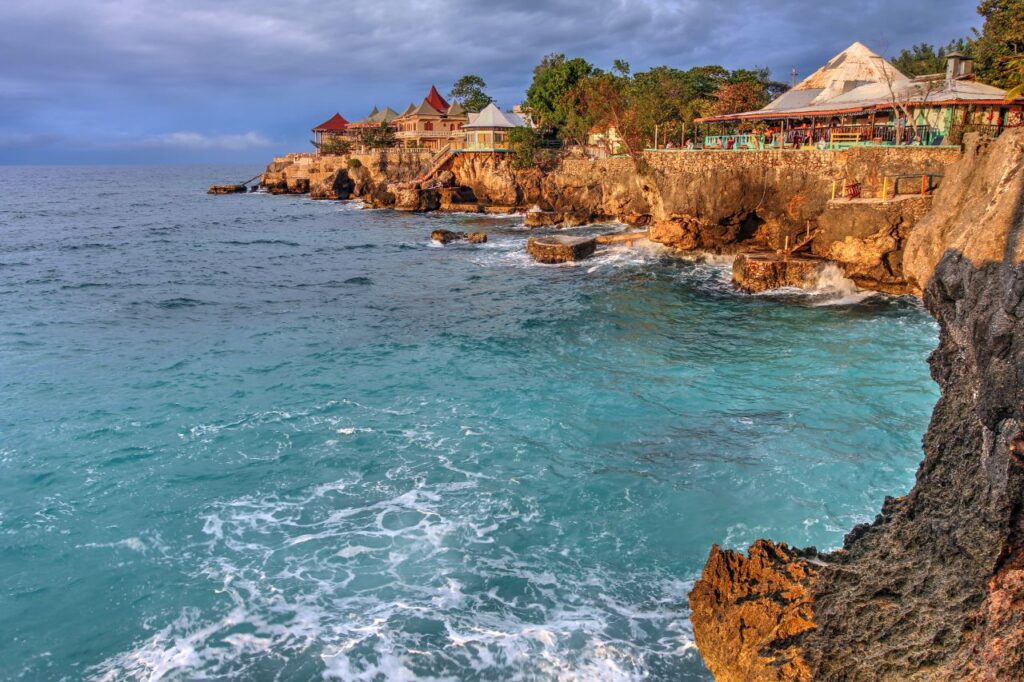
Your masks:
M759 540L750 556L716 545L690 592L693 636L718 682L811 680L798 635L814 629L808 553Z

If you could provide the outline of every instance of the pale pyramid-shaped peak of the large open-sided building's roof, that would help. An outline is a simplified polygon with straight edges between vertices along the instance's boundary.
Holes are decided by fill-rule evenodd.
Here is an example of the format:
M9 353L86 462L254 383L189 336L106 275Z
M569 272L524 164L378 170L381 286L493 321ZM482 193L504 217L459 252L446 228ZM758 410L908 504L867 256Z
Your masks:
M765 106L764 112L804 110L833 99L863 85L906 81L896 67L863 43L854 43L805 78L797 87Z

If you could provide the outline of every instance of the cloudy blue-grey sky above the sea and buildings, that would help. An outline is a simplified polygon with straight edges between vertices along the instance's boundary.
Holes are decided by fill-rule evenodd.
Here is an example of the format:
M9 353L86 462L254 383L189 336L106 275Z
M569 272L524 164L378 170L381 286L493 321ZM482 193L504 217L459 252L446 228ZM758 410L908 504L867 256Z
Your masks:
M503 108L545 54L634 71L889 57L980 28L976 0L0 0L0 164L253 163L335 112L476 74Z

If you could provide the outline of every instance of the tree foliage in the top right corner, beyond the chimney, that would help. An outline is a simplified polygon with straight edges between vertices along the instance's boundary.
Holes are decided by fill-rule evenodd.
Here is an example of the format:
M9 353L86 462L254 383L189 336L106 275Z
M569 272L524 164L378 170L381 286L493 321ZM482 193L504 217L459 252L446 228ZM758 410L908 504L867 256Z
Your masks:
M978 77L1001 88L1024 83L1024 2L981 0L985 24L975 41Z

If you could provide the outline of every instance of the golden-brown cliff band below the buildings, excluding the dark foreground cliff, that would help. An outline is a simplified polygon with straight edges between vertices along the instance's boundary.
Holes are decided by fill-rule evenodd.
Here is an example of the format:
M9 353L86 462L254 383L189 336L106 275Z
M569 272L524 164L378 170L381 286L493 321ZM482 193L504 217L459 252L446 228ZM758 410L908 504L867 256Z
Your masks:
M261 178L274 194L359 199L400 211L526 212L530 227L618 221L649 230L678 251L782 253L783 260L837 263L857 286L920 293L903 268L903 250L932 197L836 200L855 184L878 196L887 177L942 174L959 158L948 147L852 148L842 152L647 153L638 172L628 158L562 160L548 171L517 170L508 155L456 154L430 177L429 152L388 150L348 157L289 155ZM795 249L799 247L800 253ZM785 266L786 272L815 268ZM742 273L752 291L795 275Z

